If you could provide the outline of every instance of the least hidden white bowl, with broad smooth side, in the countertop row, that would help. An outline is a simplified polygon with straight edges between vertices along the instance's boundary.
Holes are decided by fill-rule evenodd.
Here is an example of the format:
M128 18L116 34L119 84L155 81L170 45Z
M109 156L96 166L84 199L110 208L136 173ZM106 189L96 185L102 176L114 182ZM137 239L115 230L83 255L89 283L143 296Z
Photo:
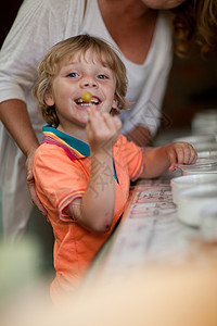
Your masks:
M217 185L199 185L179 192L178 217L181 222L201 226L202 209L217 202Z

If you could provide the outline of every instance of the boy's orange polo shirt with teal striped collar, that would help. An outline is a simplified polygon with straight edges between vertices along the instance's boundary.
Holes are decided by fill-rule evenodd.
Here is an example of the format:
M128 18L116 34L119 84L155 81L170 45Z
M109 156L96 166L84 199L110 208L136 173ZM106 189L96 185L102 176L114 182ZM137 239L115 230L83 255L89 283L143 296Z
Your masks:
M35 155L34 176L55 238L53 259L56 276L51 285L51 297L56 301L62 292L76 289L114 229L125 210L130 180L136 180L143 171L143 151L122 135L114 145L113 223L107 233L99 234L86 229L64 211L69 202L82 197L86 191L90 175L89 146L51 126L43 127L43 134L44 140Z

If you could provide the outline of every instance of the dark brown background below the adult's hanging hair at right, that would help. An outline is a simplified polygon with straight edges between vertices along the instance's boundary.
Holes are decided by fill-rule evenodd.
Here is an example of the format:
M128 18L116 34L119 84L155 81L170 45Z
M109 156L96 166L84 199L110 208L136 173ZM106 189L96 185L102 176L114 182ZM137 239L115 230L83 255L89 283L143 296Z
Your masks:
M204 60L196 49L188 59L174 57L159 131L190 129L195 114L207 109L217 110L217 46Z

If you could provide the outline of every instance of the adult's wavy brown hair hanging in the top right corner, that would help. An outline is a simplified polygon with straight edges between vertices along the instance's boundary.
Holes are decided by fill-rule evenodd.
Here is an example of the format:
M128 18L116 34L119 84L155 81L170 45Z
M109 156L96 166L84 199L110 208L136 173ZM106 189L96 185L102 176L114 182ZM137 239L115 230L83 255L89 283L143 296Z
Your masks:
M216 42L217 0L188 0L171 13L175 53L187 57L192 45L196 43L205 57Z

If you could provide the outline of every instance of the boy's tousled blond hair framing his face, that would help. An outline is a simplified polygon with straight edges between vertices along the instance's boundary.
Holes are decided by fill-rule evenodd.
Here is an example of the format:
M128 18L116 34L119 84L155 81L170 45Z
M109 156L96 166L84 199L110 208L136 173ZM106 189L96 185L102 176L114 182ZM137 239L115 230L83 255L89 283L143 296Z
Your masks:
M52 80L56 73L58 64L67 57L75 53L86 53L91 49L104 66L111 68L116 79L115 98L117 101L117 110L112 110L113 114L119 114L120 110L126 109L128 102L125 100L127 92L127 72L124 63L113 50L113 48L104 40L89 35L78 35L65 39L50 49L38 66L38 79L35 84L34 96L38 101L38 108L44 121L54 127L58 127L60 121L55 112L55 108L46 103L46 95L51 92Z

